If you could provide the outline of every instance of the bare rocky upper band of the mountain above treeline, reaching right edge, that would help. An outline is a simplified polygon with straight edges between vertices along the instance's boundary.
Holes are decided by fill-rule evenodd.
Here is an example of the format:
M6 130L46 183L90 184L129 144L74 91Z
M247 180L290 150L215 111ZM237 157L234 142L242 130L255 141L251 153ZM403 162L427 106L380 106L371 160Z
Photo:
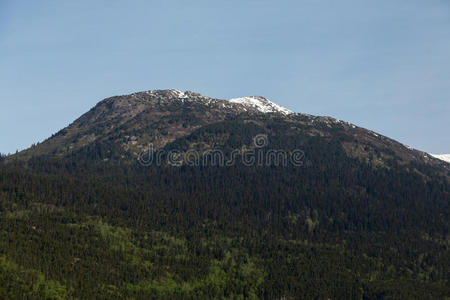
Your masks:
M223 122L280 120L290 134L329 138L345 136L341 145L350 157L385 165L388 160L401 164L417 162L437 166L448 172L449 166L432 155L413 150L399 142L331 117L293 113L263 97L235 98L230 101L202 96L194 92L155 90L107 98L68 127L43 143L22 151L18 157L64 156L93 144L107 144L121 157L136 158L149 144L160 149L202 127ZM265 128L263 132L270 133ZM105 154L104 159L110 159Z

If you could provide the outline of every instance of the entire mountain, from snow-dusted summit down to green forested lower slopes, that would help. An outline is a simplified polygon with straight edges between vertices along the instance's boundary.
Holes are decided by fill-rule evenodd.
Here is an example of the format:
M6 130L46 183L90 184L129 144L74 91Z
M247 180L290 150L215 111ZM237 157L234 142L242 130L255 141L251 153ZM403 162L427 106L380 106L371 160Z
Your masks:
M115 96L0 162L0 298L445 299L450 165L259 96Z

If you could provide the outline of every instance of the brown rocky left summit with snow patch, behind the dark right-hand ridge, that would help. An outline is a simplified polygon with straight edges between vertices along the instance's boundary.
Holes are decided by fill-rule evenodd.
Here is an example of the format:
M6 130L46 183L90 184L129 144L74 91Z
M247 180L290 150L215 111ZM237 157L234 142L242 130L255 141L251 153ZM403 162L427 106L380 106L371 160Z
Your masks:
M136 156L148 143L163 147L201 126L242 114L253 115L269 111L288 110L262 97L225 101L177 90L117 96L101 101L67 128L19 156L50 153L62 155L106 140L112 140L123 150Z

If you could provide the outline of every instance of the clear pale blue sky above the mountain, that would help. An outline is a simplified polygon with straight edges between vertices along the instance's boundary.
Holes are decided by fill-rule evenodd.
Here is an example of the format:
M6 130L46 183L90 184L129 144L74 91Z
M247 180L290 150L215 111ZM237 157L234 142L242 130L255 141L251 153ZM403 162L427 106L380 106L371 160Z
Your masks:
M0 0L0 152L154 89L260 95L450 153L450 1Z

